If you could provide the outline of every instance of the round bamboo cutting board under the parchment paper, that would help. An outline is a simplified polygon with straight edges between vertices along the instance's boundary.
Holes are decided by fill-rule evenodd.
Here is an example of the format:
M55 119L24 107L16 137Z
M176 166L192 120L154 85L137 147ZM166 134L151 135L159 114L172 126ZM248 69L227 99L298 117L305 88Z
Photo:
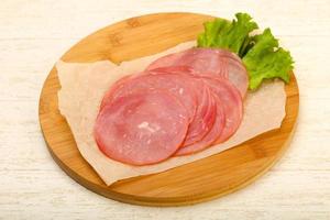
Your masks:
M195 13L157 13L107 26L80 41L65 62L116 63L158 53L195 40L202 23L213 19ZM81 157L57 106L61 88L56 69L50 73L40 98L40 122L56 163L88 189L123 202L146 206L182 206L210 200L238 190L264 174L288 146L299 107L294 74L286 85L286 117L280 129L261 134L223 153L160 174L134 177L107 187Z

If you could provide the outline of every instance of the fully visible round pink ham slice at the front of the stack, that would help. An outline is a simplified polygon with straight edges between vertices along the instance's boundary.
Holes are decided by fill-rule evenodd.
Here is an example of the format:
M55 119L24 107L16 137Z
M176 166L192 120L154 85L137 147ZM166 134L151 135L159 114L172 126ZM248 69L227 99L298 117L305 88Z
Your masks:
M116 99L99 112L95 139L108 157L131 164L155 164L182 145L188 116L179 100L164 90L140 90Z

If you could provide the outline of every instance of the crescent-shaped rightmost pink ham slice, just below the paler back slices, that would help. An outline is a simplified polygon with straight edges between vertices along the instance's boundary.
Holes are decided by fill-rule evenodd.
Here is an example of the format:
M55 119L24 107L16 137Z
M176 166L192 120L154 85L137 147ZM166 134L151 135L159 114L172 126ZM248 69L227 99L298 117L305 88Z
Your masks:
M219 98L223 107L226 123L221 135L215 143L227 141L235 133L243 118L243 100L239 90L227 79L215 76L202 76L204 81Z

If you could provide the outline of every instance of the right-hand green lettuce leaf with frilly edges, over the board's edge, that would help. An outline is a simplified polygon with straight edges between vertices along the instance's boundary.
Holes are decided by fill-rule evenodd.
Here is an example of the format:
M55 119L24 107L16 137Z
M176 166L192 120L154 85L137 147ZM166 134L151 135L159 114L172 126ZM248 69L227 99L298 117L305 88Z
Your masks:
M253 37L254 45L243 57L249 73L249 88L256 89L263 79L280 78L289 82L293 58L289 52L278 47L278 41L270 29Z

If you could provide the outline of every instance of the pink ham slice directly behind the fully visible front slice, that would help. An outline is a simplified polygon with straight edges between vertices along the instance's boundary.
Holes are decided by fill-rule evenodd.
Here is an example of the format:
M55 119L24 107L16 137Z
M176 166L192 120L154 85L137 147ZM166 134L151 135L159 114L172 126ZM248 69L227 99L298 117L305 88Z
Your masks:
M125 77L117 81L106 94L101 108L109 105L119 97L135 92L140 89L164 89L175 96L188 111L189 121L193 121L197 110L197 95L194 88L190 88L188 76L179 74L140 74Z

